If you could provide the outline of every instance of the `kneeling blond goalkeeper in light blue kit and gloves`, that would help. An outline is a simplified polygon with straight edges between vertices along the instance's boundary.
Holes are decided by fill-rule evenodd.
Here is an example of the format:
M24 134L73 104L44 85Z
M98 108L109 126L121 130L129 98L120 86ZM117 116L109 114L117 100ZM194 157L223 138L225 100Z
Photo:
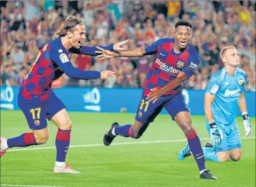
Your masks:
M224 67L212 75L205 94L206 128L211 143L205 143L203 153L205 159L214 162L225 162L229 159L238 161L241 158L241 140L236 123L238 106L244 119L245 136L248 137L251 133L244 97L246 73L237 68L240 56L234 46L224 47L220 56ZM180 151L178 159L183 160L191 154L189 146L186 145Z

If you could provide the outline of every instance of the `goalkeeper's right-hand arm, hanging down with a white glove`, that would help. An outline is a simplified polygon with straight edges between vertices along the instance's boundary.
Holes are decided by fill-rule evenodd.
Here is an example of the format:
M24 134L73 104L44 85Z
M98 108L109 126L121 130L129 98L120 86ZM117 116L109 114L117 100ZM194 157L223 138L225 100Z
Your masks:
M238 106L242 113L242 118L244 119L244 127L246 132L245 136L248 137L251 134L251 123L250 123L250 118L248 116L244 92L240 94Z

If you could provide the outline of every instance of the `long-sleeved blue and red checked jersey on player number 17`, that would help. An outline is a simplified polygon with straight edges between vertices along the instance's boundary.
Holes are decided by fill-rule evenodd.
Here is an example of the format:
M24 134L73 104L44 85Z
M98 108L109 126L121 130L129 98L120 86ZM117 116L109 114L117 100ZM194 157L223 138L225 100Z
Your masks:
M103 49L113 50L113 45L100 46ZM71 48L66 50L61 38L56 38L46 44L38 54L27 79L20 86L23 97L31 99L32 95L40 95L41 100L49 97L51 84L63 73L74 79L98 79L101 76L97 71L81 71L73 67L70 58L72 53L93 55L97 54L96 47L81 46L80 49Z

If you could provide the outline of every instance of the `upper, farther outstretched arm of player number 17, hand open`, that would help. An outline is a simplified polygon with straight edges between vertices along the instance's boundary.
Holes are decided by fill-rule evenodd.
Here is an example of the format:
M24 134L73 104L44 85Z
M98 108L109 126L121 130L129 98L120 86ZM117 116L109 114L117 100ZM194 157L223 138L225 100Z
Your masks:
M76 49L76 48L71 48L70 51L71 53L75 53L75 54L82 54L82 55L90 55L90 56L97 56L98 53L96 53L96 51L98 51L97 47L100 47L103 50L123 50L122 45L127 44L129 42L129 40L125 40L122 42L118 42L116 44L110 44L107 46L86 46L86 45L82 45L80 47L80 49Z

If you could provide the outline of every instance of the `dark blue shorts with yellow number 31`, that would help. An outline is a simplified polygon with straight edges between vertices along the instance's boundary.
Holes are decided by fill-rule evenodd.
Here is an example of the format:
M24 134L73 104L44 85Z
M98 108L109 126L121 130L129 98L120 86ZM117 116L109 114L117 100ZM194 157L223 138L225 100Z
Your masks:
M172 120L179 112L189 112L189 108L186 106L182 93L175 93L171 95L164 95L160 97L154 104L149 102L144 94L142 94L140 105L138 105L135 119L140 123L151 123L155 117L166 108L168 114L171 115Z

